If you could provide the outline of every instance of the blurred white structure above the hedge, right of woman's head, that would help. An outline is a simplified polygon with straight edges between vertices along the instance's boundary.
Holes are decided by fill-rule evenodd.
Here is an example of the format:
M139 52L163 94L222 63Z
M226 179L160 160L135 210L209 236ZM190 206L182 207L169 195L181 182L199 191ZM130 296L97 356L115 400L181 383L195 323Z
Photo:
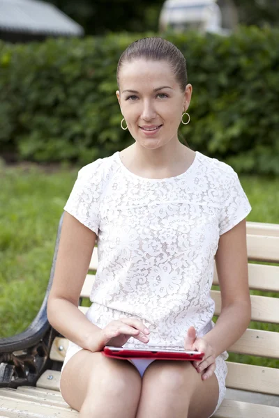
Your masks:
M228 35L238 22L233 0L166 0L160 13L159 29Z

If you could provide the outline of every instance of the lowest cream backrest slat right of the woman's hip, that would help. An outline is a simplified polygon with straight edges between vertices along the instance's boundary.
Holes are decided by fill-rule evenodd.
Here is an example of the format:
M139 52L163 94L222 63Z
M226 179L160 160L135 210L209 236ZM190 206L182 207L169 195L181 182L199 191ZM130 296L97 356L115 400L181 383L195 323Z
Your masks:
M227 369L227 387L279 395L279 369L233 362L227 362Z

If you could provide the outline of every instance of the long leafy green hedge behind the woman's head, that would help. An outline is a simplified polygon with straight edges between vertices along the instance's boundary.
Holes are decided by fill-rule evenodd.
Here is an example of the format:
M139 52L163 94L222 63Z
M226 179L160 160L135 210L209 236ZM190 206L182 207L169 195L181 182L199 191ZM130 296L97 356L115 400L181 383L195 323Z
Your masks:
M0 146L19 160L86 164L133 144L121 130L116 65L130 42L154 33L0 43ZM191 148L238 172L279 173L278 29L229 37L163 36L181 49L193 84Z

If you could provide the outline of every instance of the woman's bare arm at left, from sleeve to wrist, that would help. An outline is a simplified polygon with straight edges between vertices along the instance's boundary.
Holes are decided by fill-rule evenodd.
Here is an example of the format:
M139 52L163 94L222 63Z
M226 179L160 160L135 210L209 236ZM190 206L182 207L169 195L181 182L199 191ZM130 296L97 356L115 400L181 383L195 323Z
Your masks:
M91 351L103 349L102 334L100 328L78 309L78 303L96 238L91 229L68 212L64 213L54 279L47 301L47 318L52 327Z

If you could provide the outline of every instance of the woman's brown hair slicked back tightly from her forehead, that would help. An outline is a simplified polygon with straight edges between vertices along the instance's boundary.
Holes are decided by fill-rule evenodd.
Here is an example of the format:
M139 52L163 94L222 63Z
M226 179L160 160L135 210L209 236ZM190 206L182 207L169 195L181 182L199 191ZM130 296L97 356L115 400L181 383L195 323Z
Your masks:
M179 49L168 40L159 37L142 38L131 43L121 54L116 71L117 85L119 86L119 71L123 63L134 59L150 61L167 61L174 72L181 91L187 85L186 59Z

